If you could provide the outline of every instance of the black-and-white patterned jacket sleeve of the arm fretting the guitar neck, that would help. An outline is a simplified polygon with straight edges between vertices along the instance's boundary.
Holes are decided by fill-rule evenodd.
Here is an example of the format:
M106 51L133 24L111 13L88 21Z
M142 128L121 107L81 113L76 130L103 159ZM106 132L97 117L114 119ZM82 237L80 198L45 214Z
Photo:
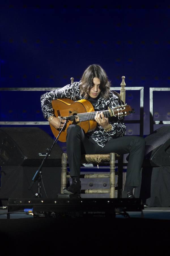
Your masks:
M113 100L110 108L121 105L119 100ZM123 123L124 117L113 117L109 120L109 123L112 125L111 131L107 132L113 138L122 137L126 135L126 125Z

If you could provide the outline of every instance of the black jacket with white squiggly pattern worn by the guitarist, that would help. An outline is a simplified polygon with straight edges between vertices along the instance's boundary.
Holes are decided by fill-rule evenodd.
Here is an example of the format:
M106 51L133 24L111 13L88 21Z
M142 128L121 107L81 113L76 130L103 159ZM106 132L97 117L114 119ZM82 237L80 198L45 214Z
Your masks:
M41 96L41 108L44 118L54 115L51 101L58 98L69 98L73 101L85 99L80 95L80 82L74 82L73 84L67 84L61 89L57 89L51 92L46 92ZM118 96L110 91L109 99L99 97L94 105L95 111L107 110L108 107L111 109L120 105ZM104 129L97 124L94 131L86 134L89 138L93 139L99 146L104 147L107 141L112 138L124 136L126 134L126 125L123 123L123 117L111 117L109 123L112 125L112 130L104 132Z

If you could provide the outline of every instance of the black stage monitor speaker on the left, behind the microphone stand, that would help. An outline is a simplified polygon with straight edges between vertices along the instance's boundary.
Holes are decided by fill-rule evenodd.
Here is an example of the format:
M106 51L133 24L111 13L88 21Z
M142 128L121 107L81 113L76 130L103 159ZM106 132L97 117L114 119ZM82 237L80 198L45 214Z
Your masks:
M0 166L39 166L53 138L38 127L0 128ZM56 143L43 166L61 166L63 150Z

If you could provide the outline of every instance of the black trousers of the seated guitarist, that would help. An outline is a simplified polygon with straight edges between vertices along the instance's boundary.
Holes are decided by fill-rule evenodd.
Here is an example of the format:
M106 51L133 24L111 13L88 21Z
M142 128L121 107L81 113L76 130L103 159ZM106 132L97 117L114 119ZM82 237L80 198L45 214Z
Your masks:
M102 148L95 141L88 139L78 125L70 125L67 129L66 141L71 177L80 177L82 154L129 153L125 186L139 186L145 153L145 140L143 138L139 136L119 137L111 139Z

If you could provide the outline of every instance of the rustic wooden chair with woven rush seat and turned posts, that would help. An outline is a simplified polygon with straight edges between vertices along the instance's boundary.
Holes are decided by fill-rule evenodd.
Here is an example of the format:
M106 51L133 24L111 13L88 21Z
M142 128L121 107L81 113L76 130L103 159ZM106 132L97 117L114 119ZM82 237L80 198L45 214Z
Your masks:
M117 92L114 92L120 100L125 102L125 77L122 77L121 82L121 88L120 88L120 94ZM71 83L73 83L74 79L71 78ZM109 189L86 189L84 193L91 194L91 193L109 193L110 198L115 198L115 161L122 159L120 155L111 152L110 154L86 154L82 155L81 162L82 164L90 163L90 164L102 164L107 163L110 164L110 173L109 174L80 174L80 178L110 178L110 188ZM121 169L123 170L123 164L120 162ZM67 174L67 154L62 154L61 159L61 193L63 193L63 189L66 187L67 178L70 177L69 174ZM123 178L122 178L122 170L119 170L118 172L118 187L120 184L120 189L122 187ZM120 174L120 175L119 175ZM120 180L119 180L120 179ZM120 195L120 193L119 193Z

